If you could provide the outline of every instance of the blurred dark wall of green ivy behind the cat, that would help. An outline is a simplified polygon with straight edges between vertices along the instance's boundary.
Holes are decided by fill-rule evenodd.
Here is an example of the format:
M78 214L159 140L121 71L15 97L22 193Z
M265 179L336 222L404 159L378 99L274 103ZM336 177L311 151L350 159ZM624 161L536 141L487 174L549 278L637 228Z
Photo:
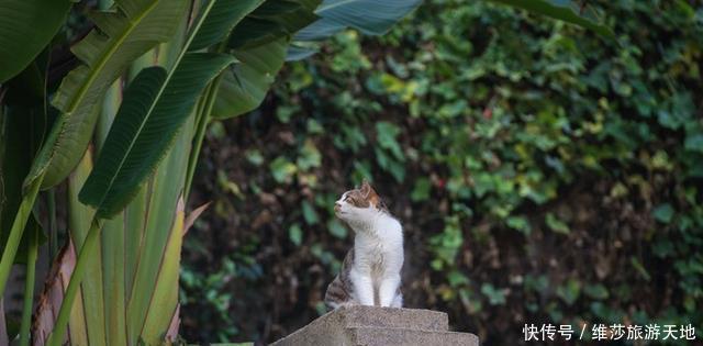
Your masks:
M589 3L620 47L432 0L383 37L338 34L258 110L215 123L185 337L272 342L322 314L353 241L333 201L364 177L405 228L405 304L456 331L492 345L525 323L691 323L703 337L703 5Z

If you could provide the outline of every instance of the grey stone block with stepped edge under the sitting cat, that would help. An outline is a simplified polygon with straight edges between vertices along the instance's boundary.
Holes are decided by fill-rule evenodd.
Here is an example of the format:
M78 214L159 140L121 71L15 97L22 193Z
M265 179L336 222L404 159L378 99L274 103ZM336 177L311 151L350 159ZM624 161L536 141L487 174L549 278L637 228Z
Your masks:
M449 332L444 312L357 305L331 311L271 345L478 346L479 338Z

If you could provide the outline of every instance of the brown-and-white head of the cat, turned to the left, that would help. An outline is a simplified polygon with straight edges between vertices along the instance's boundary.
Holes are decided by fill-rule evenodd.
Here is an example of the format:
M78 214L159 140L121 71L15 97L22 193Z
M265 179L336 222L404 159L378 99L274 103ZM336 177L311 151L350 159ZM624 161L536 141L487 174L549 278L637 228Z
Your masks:
M386 205L366 180L358 189L344 192L334 203L337 217L349 223L372 220L379 212L387 212Z

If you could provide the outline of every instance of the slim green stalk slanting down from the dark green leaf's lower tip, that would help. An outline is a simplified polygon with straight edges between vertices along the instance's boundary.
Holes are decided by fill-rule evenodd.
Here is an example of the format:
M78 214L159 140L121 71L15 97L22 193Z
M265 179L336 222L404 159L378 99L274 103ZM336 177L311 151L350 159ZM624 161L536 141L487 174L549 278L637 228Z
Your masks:
M97 217L93 219L92 223L90 224L90 230L86 235L86 239L83 241L83 245L80 247L74 272L70 275L70 281L68 282L68 288L66 289L66 293L64 294L62 308L58 310L58 317L56 317L54 330L48 336L48 341L46 343L46 345L48 346L59 346L64 341L64 336L68 326L68 317L70 316L70 310L74 306L76 293L80 288L80 282L83 279L83 275L86 274L86 269L88 267L88 261L90 260L90 258L88 258L88 255L92 253L96 246L98 246L101 230L102 220Z

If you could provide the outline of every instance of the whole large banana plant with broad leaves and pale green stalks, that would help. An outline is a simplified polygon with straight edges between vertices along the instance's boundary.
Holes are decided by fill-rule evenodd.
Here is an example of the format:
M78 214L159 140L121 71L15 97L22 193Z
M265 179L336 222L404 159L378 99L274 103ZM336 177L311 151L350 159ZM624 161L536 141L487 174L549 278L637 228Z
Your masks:
M612 36L569 1L495 1ZM100 1L88 15L94 29L71 47L79 64L55 88L47 56L70 2L2 0L0 18L12 21L0 25L0 291L23 259L21 344L174 342L182 237L203 210L187 216L186 205L208 125L257 108L284 62L320 41L347 27L383 34L420 2ZM51 20L27 22L43 12ZM18 129L37 145L10 149ZM30 328L38 196L49 245L59 238L54 207L65 208L67 230Z

